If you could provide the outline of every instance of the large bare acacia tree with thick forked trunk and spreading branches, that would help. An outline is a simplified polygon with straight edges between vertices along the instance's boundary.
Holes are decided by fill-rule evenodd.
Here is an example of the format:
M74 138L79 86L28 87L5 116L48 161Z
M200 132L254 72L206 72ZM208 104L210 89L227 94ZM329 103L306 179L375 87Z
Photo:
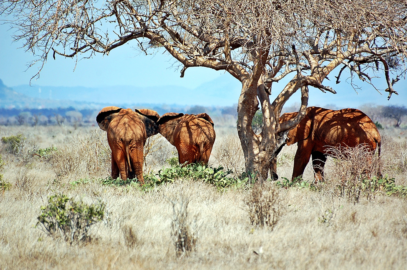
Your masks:
M145 53L166 50L181 77L195 66L229 72L242 83L237 130L246 171L263 178L305 114L308 86L335 94L323 81L337 67L337 83L345 69L372 86L368 72L384 73L390 98L407 55L406 0L0 0L0 7L14 16L15 39L37 56L33 64L50 53L108 54L133 41ZM291 80L270 100L272 83L286 76ZM299 89L298 116L279 123ZM258 105L263 130L255 134Z

